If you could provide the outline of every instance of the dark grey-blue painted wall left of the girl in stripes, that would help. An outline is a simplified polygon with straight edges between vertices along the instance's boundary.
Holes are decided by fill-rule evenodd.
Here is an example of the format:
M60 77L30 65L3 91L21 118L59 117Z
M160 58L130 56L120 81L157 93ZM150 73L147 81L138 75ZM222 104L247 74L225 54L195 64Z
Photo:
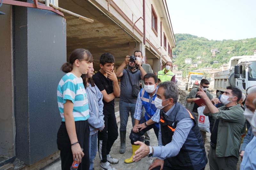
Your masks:
M66 21L51 11L15 6L14 34L16 153L31 165L57 151Z

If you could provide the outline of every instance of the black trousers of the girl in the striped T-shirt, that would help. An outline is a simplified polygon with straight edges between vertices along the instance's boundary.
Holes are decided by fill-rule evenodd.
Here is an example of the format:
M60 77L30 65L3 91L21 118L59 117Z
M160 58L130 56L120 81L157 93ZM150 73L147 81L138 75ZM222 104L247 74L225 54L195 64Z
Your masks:
M89 136L90 129L88 121L76 121L76 136L81 148L84 149L84 157L82 163L79 164L78 170L89 170L90 168L90 156L89 156ZM73 163L73 154L70 145L70 139L66 129L65 122L61 122L60 128L57 133L57 146L60 150L61 169L69 170Z

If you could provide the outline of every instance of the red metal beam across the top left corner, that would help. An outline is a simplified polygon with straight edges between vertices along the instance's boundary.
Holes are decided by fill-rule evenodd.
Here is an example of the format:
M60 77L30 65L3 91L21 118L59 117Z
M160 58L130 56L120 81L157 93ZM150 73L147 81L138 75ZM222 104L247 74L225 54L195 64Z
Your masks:
M37 0L34 0L34 2L37 2ZM39 4L32 4L32 3L28 3L28 2L20 2L20 1L14 1L14 0L3 0L3 4L8 4L8 5L17 5L17 6L25 6L25 7L29 7L29 8L38 8L38 9L42 9L42 10L48 10L48 11L52 11L55 12L58 15L61 15L62 17L64 17L64 14L58 10L55 10L54 8L50 7L50 6L45 6L45 5L39 5Z

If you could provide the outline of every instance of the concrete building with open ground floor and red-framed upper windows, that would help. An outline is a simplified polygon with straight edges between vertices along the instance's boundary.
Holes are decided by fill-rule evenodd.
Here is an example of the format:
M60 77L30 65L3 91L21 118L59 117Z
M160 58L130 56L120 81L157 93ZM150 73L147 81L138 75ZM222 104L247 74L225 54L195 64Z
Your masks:
M115 56L116 67L135 50L146 55L144 62L154 72L172 61L175 39L165 0L63 0L59 6L94 20L88 24L66 17L67 56L74 48L87 48L95 59L95 70L104 52Z

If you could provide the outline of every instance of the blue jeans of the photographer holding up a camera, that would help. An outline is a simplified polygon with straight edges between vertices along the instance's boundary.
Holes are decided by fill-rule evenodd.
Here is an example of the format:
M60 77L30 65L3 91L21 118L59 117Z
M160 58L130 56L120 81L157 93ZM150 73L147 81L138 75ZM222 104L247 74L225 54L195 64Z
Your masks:
M132 127L134 126L134 112L136 103L129 103L123 100L119 101L119 115L120 115L120 131L126 130L128 117L131 113Z

